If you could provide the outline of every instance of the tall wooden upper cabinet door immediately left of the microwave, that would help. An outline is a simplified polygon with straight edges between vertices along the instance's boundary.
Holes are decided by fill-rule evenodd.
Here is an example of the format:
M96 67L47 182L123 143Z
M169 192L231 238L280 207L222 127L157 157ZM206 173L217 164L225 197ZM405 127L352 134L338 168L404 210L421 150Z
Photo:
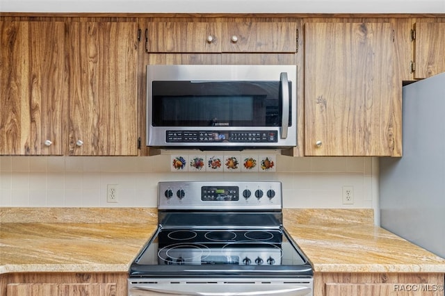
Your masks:
M137 155L135 23L67 25L70 155Z

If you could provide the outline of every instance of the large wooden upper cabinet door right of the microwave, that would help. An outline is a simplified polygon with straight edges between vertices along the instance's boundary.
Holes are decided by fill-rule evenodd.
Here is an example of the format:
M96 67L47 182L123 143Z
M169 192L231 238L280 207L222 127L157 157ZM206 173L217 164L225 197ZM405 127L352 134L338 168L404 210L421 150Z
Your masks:
M305 155L400 156L391 24L305 24Z

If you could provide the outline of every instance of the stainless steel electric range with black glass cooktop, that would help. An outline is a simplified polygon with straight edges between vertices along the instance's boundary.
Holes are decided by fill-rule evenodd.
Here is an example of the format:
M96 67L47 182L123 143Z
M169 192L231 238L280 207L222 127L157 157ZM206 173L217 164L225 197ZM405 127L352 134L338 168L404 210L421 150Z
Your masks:
M129 295L313 295L312 266L282 224L280 182L160 182L159 227Z

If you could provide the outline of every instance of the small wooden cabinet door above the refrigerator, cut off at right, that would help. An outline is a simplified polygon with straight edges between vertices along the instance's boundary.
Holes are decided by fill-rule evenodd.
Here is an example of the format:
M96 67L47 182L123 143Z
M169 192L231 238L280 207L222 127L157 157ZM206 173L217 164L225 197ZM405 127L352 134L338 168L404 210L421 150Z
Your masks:
M445 23L415 24L415 79L445 72Z

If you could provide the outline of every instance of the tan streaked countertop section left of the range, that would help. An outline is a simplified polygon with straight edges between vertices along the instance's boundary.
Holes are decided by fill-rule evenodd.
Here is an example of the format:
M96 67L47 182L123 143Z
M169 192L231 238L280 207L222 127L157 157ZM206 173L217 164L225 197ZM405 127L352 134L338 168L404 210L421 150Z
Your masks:
M127 272L156 208L0 208L0 274Z

